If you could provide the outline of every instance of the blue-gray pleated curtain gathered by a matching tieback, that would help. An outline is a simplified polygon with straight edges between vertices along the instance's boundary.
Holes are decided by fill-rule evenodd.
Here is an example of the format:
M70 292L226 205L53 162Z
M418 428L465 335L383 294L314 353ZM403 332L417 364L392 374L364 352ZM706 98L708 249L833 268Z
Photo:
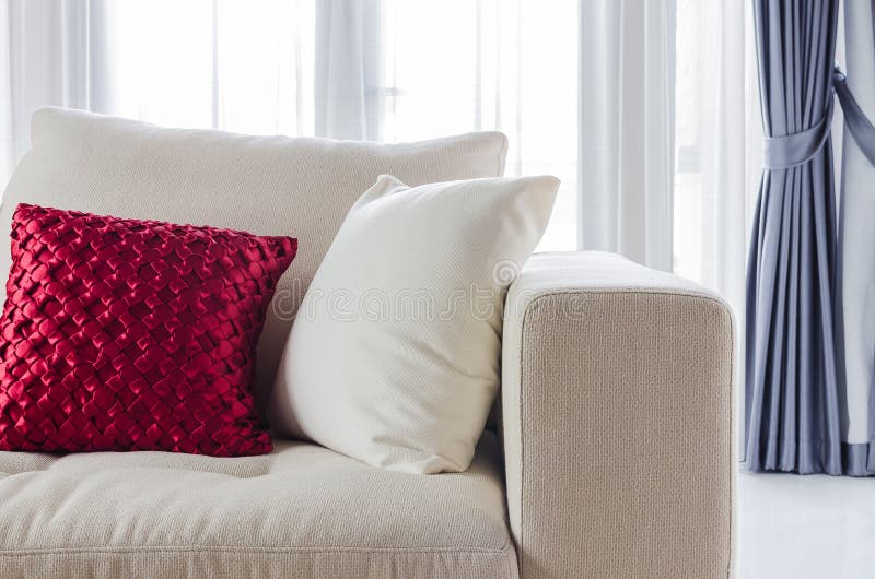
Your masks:
M744 464L842 474L829 126L838 0L755 0L765 170L747 272Z

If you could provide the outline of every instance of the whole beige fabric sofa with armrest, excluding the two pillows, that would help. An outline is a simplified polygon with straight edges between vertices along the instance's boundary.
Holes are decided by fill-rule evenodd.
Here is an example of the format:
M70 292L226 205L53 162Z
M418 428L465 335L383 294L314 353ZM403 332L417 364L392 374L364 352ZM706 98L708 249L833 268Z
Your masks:
M497 175L504 147L497 133L373 145L44 110L0 220L28 201L299 235L278 293L291 306L259 345L262 391L282 345L266 341L368 181ZM617 256L539 255L508 295L501 365L498 420L460 474L306 441L240 459L0 452L0 577L728 576L723 302Z

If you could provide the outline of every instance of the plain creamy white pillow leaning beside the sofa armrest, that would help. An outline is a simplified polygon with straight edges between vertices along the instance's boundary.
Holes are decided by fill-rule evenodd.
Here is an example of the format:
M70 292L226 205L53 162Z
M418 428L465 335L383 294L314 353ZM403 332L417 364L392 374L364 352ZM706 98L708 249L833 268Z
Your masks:
M467 469L499 386L504 293L558 186L380 177L292 326L269 404L277 432L394 470Z

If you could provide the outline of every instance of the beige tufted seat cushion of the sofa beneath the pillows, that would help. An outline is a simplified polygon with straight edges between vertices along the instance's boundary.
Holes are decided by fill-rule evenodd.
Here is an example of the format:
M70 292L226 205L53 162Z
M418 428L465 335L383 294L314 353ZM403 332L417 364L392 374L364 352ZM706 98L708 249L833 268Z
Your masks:
M515 577L494 435L421 476L304 442L0 452L0 577Z

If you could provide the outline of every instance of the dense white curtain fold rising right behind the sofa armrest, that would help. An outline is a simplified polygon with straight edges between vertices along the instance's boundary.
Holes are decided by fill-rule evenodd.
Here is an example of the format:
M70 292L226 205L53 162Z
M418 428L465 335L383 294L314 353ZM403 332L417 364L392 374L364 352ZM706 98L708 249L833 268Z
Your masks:
M672 271L675 0L580 4L579 245Z

